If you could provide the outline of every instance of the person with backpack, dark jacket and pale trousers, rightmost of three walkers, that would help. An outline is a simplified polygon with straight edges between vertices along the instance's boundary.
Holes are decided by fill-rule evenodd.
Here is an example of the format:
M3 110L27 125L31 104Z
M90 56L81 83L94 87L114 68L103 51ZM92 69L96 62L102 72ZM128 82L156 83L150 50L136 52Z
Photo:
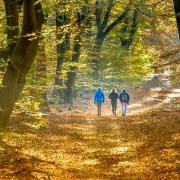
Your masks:
M125 116L127 111L127 105L130 101L130 96L125 89L123 89L122 93L119 95L119 99L122 105L122 115Z

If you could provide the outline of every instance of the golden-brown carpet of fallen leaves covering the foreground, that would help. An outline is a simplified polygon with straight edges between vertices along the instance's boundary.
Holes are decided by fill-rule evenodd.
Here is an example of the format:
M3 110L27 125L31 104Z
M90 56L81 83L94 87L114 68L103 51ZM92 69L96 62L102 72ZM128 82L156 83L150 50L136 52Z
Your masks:
M178 180L180 112L13 117L0 134L0 179ZM44 122L47 122L44 123Z

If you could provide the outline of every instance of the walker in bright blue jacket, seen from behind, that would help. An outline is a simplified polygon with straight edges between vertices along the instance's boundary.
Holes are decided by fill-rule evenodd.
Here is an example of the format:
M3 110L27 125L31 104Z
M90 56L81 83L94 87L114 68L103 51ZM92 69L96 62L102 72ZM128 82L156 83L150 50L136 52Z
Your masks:
M102 103L104 103L104 99L105 97L103 91L101 90L101 88L98 88L94 95L94 104L97 104L98 116L101 116L101 107Z

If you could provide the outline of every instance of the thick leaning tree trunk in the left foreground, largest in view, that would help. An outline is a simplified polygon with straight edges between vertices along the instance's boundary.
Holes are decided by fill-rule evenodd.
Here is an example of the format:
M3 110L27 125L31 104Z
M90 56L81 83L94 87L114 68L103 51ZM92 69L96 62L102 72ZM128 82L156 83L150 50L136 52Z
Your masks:
M36 13L35 13L36 12ZM24 0L22 33L8 63L0 89L0 126L5 127L15 102L25 85L26 75L36 56L39 38L44 21L40 3ZM28 35L28 36L27 36Z

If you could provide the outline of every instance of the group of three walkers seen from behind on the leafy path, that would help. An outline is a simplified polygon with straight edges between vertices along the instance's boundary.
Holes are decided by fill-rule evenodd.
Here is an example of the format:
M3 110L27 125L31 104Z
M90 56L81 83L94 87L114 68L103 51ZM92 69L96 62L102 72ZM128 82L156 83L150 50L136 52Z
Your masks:
M116 109L117 109L117 100L119 99L122 105L122 115L126 115L127 105L130 101L130 96L126 92L125 89L118 95L116 88L113 88L109 94L109 99L111 99L111 105L112 105L112 113L116 116ZM101 90L101 88L98 88L94 95L94 104L97 104L97 113L98 116L101 115L101 107L102 103L104 103L105 96L104 92Z

